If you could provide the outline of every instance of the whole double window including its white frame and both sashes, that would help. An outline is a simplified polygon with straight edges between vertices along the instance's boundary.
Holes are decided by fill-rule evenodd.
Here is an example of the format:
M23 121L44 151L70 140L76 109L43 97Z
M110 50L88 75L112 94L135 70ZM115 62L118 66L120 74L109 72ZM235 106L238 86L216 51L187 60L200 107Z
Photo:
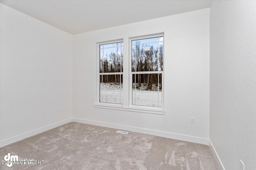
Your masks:
M94 107L164 114L164 36L96 43Z

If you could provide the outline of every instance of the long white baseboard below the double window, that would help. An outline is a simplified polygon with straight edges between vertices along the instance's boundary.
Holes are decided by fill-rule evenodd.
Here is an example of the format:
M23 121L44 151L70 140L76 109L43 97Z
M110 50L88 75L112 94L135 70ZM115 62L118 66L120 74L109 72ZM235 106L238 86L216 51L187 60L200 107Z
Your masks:
M143 129L143 128L139 128L139 127L117 125L117 124L105 123L105 122L99 122L99 121L91 121L91 120L86 120L86 119L73 118L73 121L78 122L78 123L85 123L85 124L89 124L89 125L109 127L109 128L113 128L113 129L120 129L120 130L125 130L125 131L132 131L132 132L137 132L137 133L144 133L144 134L148 134L148 135L154 135L154 136L166 137L166 138L171 138L171 139L177 139L177 140L181 140L181 141L209 145L209 139L204 139L204 138L200 138L200 137L192 137L192 136L180 135L180 134L169 133L169 132L164 132L164 131L156 131L156 130L151 130L151 129Z

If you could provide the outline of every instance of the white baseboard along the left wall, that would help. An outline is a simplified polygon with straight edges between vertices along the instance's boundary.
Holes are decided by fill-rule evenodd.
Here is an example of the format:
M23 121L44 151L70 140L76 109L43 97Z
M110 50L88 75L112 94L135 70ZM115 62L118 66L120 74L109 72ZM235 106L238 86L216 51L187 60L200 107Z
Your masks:
M61 126L61 125L64 125L66 123L70 123L72 122L72 118L70 119L66 119L64 121L59 121L57 123L53 123L51 125L48 125L48 126L45 126L45 127L41 127L39 129L36 129L36 130L33 130L33 131L29 131L29 132L26 132L26 133L23 133L21 135L17 135L15 137L11 137L11 138L8 138L8 139L5 139L5 140L2 140L0 141L0 147L4 147L6 145L9 145L11 143L14 143L14 142L17 142L17 141L20 141L22 139L26 139L28 137L31 137L31 136L34 136L34 135L37 135L39 133L42 133L44 131L48 131L50 129L53 129L55 127L58 127L58 126Z

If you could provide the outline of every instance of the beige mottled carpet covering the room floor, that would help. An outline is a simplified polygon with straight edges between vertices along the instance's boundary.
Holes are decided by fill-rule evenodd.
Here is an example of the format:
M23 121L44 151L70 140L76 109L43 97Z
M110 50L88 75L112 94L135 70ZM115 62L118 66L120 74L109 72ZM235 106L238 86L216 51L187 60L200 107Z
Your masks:
M218 170L206 145L116 131L71 122L0 148L0 160L11 153L43 164L1 164L0 169Z

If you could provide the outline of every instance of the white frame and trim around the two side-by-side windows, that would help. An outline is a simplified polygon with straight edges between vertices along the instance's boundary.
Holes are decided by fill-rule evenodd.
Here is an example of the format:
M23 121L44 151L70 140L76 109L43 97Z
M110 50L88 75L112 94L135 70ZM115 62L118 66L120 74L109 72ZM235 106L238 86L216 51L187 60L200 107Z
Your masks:
M132 41L136 39L147 39L153 37L161 37L163 36L163 46L164 46L164 33L152 34L146 36L138 36L138 37L127 37L124 39L117 39L113 41L104 41L96 43L96 59L95 59L95 108L102 109L114 109L114 110L123 110L123 111L133 111L133 112L141 112L141 113L153 113L164 115L164 60L163 59L163 71L162 71L162 107L152 107L152 106L138 106L132 105ZM126 41L125 41L126 40ZM112 103L102 103L100 102L100 45L109 44L109 43L117 43L123 42L123 104L112 104ZM128 49L128 51L127 51ZM165 49L165 48L164 48ZM127 59L128 58L128 59ZM165 56L164 56L165 58ZM128 67L128 69L127 69ZM128 72L127 72L128 70ZM145 72L145 74L148 72ZM153 74L154 72L152 72ZM124 84L126 83L126 84ZM127 84L128 83L128 84ZM125 94L128 94L125 99Z

